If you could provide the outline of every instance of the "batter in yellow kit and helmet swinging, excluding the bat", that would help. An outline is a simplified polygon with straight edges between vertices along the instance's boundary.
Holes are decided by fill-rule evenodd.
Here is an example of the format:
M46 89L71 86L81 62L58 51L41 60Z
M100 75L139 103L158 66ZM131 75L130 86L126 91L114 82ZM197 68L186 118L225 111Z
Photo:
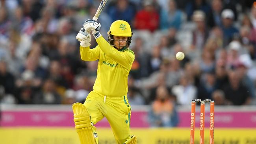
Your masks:
M83 61L98 60L93 91L85 102L74 103L74 122L81 144L98 144L95 124L106 117L117 144L137 144L130 135L131 107L127 100L128 74L134 61L129 49L132 31L128 22L117 20L108 31L108 41L99 32L100 23L89 19L83 24L76 39L80 41ZM98 46L90 49L91 31Z

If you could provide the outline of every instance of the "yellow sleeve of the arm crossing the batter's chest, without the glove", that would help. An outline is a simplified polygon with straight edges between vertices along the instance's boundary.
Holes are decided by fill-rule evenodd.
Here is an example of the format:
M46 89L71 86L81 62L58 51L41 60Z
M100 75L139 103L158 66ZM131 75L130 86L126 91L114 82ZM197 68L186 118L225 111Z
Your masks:
M134 52L131 50L127 50L125 52L119 52L113 46L111 46L105 39L100 35L100 37L96 38L96 42L98 46L111 59L124 66L127 69L131 69L132 63L134 61Z

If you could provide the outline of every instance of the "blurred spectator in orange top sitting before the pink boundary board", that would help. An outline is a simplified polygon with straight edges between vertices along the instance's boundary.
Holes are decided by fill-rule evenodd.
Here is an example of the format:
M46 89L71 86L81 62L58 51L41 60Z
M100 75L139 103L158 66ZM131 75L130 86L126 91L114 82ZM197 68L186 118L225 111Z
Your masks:
M164 86L156 90L156 100L152 103L149 121L152 127L175 127L178 124L175 103Z

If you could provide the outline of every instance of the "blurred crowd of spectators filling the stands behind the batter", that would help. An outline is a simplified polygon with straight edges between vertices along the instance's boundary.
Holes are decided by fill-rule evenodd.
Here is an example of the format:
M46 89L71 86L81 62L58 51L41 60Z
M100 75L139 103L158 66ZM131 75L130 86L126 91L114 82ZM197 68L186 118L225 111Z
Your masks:
M80 59L76 34L100 1L0 0L1 103L84 102L97 61ZM256 105L253 0L109 0L98 19L105 38L119 19L133 31L128 100L152 105L153 125L175 126L175 106L197 98Z

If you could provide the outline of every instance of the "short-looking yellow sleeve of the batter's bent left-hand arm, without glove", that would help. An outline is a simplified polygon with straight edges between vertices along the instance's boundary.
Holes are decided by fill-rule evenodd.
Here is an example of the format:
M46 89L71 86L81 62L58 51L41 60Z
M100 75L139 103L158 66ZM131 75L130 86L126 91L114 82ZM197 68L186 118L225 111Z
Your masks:
M100 49L98 46L93 49L80 46L80 55L83 61L96 61L100 58Z

